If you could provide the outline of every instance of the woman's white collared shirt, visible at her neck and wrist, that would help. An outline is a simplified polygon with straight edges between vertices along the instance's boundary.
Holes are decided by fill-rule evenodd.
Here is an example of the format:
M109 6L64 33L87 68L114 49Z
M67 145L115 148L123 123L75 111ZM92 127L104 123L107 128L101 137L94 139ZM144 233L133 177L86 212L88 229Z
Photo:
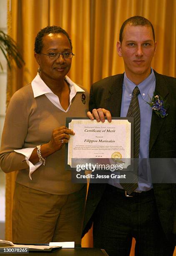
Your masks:
M45 82L41 79L39 74L31 82L31 86L33 89L34 97L38 97L40 95L45 95L50 102L52 102L57 108L62 110L63 112L68 112L71 106L72 99L75 97L77 92L85 92L82 88L80 88L77 84L75 84L69 77L65 77L65 80L68 82L70 86L70 105L67 110L64 110L60 105L60 100L57 95L55 95L52 90L45 84ZM32 164L29 159L35 148L22 148L18 150L14 150L17 153L23 154L25 156L25 160L29 165L29 177L32 180L32 173L35 172L36 169L42 164L42 162L38 162L36 164Z

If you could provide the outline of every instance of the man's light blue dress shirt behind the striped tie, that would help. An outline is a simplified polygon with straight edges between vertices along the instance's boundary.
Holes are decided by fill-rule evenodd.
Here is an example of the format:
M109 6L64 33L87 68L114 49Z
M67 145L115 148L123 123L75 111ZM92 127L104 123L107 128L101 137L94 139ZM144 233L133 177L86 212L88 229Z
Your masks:
M139 149L139 176L141 173L145 173L145 177L150 179L150 165L149 161L149 140L150 140L150 127L151 127L151 116L152 109L149 104L146 102L150 102L153 97L153 92L156 86L156 77L151 68L151 74L140 84L138 84L138 88L140 90L140 94L138 94L138 101L141 113L141 128L140 128L140 149ZM136 87L136 84L131 82L126 73L124 74L123 79L123 92L122 92L122 103L121 103L121 117L126 117L128 108L131 102L133 90ZM147 172L147 173L146 173ZM140 183L138 183L138 188L135 191L147 191L152 188L152 184L150 182L142 182L142 178L140 178ZM120 184L115 183L115 181L109 181L109 184L122 188Z

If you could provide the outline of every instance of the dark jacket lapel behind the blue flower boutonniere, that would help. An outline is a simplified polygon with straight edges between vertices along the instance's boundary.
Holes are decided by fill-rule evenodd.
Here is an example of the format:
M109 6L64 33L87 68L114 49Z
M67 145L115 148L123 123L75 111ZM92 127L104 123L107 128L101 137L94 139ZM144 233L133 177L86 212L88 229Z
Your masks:
M156 76L155 91L158 93L158 95L160 95L163 98L163 100L166 100L166 97L169 93L167 85L164 83L164 79L160 74L156 73L155 71L154 71L154 73ZM163 125L164 119L165 118L158 117L158 115L156 115L156 113L154 113L154 111L153 111L152 118L151 118L149 152L151 151L151 148L156 141L156 138L157 138L157 136L161 130L161 127Z

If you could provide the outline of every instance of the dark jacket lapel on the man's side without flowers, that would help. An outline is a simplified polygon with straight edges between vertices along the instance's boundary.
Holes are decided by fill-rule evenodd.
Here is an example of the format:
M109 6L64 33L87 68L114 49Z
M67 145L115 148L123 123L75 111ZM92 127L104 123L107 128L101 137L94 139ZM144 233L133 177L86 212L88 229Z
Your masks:
M118 77L111 83L106 95L106 108L111 112L113 117L120 117L121 115L122 84L123 74L118 75Z

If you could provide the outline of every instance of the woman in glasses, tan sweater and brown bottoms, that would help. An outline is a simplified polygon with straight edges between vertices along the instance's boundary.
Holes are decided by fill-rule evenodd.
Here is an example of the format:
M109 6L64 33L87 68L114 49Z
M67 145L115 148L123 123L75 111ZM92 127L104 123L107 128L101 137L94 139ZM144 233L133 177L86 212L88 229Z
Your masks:
M19 170L14 243L80 243L86 186L73 184L64 168L64 144L74 136L65 118L86 116L88 93L66 77L73 55L65 30L43 28L35 38L38 74L8 106L0 166L6 173Z

